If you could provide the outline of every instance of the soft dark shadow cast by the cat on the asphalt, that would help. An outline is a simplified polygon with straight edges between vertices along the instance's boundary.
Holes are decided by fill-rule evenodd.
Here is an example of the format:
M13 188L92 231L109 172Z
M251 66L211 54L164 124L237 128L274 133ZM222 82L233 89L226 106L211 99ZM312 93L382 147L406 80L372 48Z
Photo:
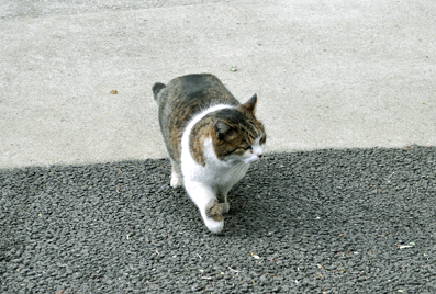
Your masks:
M304 201L301 200L301 194L295 196L292 189L300 185L294 182L299 179L290 177L283 181L281 178L286 174L278 177L261 171L264 165L253 166L247 176L230 191L231 208L224 214L225 226L217 236L271 236L284 233L301 222L301 216L305 213L295 207ZM311 191L305 191L304 195L310 193ZM186 191L177 188L172 189L172 194L181 210L180 224L189 226L197 234L208 233L200 212ZM312 205L313 203L305 203L304 211L312 211Z

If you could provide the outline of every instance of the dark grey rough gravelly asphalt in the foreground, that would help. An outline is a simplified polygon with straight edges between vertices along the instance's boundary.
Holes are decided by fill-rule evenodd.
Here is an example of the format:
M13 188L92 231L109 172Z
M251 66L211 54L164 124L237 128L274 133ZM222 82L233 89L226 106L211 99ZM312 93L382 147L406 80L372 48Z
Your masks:
M435 293L436 148L269 154L212 235L169 161L0 171L1 293Z

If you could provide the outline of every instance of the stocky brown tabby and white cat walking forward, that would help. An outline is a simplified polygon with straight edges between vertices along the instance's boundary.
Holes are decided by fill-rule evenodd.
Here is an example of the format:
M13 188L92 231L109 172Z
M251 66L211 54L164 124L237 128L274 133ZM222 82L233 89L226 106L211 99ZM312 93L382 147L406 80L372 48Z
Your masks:
M213 75L178 77L153 86L171 161L170 185L185 186L205 226L219 234L227 193L264 156L266 133L256 120L257 95L241 104Z

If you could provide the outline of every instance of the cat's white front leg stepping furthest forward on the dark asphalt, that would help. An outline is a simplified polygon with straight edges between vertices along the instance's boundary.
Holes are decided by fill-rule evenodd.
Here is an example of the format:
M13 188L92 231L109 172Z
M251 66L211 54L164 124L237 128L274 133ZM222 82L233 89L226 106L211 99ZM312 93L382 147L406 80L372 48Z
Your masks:
M185 183L185 189L199 207L209 230L214 234L221 233L224 227L224 218L215 192L210 186L191 181Z

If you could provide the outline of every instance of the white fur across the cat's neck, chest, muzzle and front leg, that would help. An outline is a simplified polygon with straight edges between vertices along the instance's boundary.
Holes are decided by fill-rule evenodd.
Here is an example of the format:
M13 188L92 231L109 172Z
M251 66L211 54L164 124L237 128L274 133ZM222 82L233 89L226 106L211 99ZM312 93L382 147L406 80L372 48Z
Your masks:
M181 137L181 172L183 185L191 200L199 207L204 224L212 233L220 233L224 227L222 213L230 210L227 193L248 170L251 162L259 159L264 147L257 138L251 149L235 160L219 160L213 149L212 138L204 140L203 156L205 165L198 163L190 151L190 134L194 125L209 113L233 108L231 105L211 106L192 117Z

